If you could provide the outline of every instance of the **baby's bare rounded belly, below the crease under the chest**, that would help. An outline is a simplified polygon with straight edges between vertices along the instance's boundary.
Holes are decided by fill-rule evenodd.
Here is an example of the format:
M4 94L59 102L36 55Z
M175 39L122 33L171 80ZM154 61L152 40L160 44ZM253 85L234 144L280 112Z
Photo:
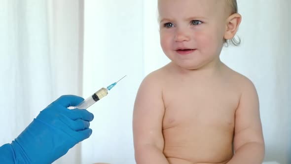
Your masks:
M163 129L170 164L226 164L233 156L232 126L180 124Z

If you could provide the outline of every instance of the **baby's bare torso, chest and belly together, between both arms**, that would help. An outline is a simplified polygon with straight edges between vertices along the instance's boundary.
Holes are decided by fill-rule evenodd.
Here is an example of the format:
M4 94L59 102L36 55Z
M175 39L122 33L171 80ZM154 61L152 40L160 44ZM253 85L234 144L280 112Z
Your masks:
M165 156L192 163L230 159L239 98L223 84L169 85L163 92Z

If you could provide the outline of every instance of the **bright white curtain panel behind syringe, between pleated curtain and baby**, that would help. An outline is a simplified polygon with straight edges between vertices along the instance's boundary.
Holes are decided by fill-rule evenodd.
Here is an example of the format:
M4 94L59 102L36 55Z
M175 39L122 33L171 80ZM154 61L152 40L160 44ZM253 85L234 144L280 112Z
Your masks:
M142 0L84 1L84 97L127 75L89 111L82 164L135 164L132 109L144 77Z

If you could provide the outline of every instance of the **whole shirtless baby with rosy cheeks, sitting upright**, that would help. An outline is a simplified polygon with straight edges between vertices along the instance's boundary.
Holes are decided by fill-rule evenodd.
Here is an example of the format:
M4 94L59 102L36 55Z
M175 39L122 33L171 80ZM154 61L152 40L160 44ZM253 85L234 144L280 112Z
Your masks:
M241 22L236 0L158 0L160 43L171 60L139 88L137 164L261 164L254 84L223 64Z

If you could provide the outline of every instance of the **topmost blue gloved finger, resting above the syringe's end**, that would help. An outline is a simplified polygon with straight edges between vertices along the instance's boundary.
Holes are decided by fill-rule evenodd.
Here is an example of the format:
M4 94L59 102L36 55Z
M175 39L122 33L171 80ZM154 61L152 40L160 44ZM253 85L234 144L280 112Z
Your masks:
M76 95L62 95L53 103L56 103L63 107L68 108L68 107L77 106L82 101L84 101L84 99Z

